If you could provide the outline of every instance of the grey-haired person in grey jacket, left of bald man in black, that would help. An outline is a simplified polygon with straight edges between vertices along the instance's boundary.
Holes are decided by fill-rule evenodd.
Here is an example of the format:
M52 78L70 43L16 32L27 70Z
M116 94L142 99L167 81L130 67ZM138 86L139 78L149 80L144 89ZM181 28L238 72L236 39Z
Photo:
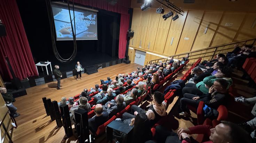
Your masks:
M79 100L77 101L79 102L79 105L77 106L73 106L70 108L70 118L71 118L71 121L73 121L73 123L76 123L75 122L75 111L77 110L86 110L88 112L91 111L91 105L87 102L87 98L86 97L80 97Z

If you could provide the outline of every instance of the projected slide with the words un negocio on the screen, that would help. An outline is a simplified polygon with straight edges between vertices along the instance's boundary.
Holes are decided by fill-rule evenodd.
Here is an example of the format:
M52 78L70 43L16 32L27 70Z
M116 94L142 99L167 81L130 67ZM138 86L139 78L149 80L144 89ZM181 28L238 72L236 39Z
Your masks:
M70 15L68 6L59 2L52 2L52 11L56 31L56 40L73 40L70 15L73 24L73 30L77 40L96 40L97 34L97 11L94 9L76 7L75 17L73 8L70 6ZM76 24L76 28L75 27Z

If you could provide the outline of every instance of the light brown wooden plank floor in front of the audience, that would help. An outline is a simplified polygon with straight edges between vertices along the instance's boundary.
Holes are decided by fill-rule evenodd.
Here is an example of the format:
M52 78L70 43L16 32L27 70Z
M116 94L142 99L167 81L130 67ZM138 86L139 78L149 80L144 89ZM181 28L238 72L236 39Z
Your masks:
M131 73L138 64L117 64L107 68L99 69L98 73L82 74L82 80L70 77L61 80L62 90L57 90L57 82L50 82L40 86L26 89L28 95L16 98L14 105L21 116L16 118L18 127L14 129L14 143L73 143L77 142L75 137L64 140L64 128L56 128L56 122L51 122L46 117L42 97L60 101L62 97L73 97L83 91L84 88L94 87L100 80L107 77L114 79L119 73Z

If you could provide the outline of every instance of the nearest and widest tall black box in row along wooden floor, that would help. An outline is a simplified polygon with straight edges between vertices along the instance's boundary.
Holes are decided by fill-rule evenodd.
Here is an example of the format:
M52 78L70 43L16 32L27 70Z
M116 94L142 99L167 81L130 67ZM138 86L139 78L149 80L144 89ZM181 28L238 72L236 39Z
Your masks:
M79 109L75 111L76 131L79 143L90 141L88 129L88 113L86 110Z

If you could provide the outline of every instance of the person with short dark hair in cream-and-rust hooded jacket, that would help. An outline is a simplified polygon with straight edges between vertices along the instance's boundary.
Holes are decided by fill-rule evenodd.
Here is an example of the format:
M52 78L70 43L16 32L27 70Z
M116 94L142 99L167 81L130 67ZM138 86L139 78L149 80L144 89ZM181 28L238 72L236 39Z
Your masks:
M150 121L150 125L154 125L162 116L166 115L166 102L164 101L164 95L163 93L156 91L153 95L153 102L154 104L150 106L148 111L146 112L146 115ZM135 116L138 113L145 113L143 109L136 105L132 105L132 114L124 113L123 114L123 120L124 119L131 119L135 118Z

